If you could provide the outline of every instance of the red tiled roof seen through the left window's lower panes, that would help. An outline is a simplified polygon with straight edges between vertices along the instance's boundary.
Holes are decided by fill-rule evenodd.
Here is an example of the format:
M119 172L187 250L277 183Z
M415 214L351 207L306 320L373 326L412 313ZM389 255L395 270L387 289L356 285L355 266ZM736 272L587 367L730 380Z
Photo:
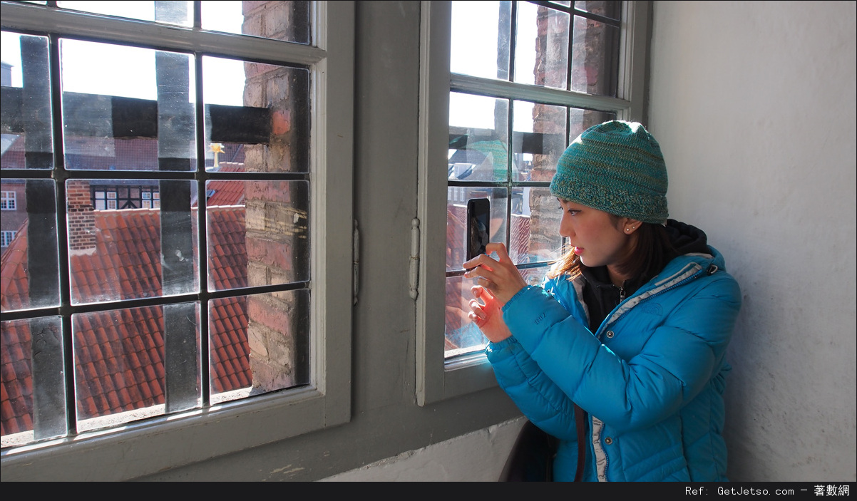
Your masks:
M96 211L96 250L72 253L72 288L78 295L109 290L121 299L160 291L159 215L155 210ZM244 207L208 211L208 240L216 289L247 284ZM27 231L3 255L3 310L27 307ZM76 401L80 419L164 403L164 340L160 307L139 307L73 317ZM247 388L246 299L213 301L209 311L213 393ZM33 429L31 335L26 321L4 322L0 367L2 434ZM205 357L204 357L205 358Z

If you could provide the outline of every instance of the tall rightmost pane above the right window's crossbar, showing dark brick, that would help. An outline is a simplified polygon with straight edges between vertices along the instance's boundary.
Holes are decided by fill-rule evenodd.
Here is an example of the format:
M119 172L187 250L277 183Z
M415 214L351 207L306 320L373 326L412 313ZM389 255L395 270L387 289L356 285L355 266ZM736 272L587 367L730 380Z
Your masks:
M572 51L572 91L615 97L619 27L575 15Z

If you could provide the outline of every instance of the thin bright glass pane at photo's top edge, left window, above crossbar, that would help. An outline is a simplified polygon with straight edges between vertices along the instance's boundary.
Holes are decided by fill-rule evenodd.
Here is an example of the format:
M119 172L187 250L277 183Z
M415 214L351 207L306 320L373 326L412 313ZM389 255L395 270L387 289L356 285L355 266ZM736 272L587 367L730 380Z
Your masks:
M194 25L193 2L67 2L60 0L57 2L57 7L185 27Z

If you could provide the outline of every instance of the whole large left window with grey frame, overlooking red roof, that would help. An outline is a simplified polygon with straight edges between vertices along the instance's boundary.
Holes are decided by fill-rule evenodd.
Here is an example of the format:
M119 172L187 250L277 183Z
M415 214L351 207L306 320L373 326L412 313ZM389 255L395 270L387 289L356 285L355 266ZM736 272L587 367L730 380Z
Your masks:
M3 2L4 474L347 421L353 5L52 4Z

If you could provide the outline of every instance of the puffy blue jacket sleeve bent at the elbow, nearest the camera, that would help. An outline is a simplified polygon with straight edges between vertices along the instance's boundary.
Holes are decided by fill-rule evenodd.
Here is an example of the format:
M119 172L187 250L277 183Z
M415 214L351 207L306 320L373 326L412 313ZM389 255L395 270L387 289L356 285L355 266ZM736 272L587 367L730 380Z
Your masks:
M506 303L503 318L543 376L566 397L617 431L629 431L674 414L720 369L740 309L740 290L728 274L719 275L701 279L704 283L694 284L690 294L670 295L662 322L628 360L603 345L544 289L522 290ZM635 335L635 322L624 320L611 326L617 340Z

